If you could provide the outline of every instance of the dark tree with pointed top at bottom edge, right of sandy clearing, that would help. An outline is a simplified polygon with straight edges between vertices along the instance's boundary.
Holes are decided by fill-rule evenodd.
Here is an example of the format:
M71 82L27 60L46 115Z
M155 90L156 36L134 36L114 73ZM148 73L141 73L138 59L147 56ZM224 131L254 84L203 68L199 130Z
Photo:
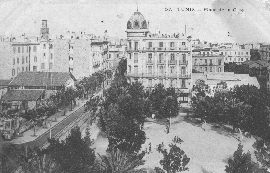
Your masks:
M257 173L259 170L259 165L252 161L250 153L243 153L243 145L241 144L238 144L233 158L228 160L225 169L226 173Z

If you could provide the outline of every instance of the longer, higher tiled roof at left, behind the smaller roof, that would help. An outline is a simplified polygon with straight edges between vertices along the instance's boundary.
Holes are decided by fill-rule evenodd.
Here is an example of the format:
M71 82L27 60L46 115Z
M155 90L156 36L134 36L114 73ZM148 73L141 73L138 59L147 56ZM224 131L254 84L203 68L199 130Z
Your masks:
M20 72L9 86L63 86L69 79L69 72Z

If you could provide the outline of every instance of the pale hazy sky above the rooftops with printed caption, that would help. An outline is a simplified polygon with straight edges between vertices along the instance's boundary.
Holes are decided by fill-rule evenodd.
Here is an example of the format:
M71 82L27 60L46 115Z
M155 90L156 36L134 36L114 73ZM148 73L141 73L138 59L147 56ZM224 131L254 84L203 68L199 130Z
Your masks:
M211 42L270 42L266 0L0 0L0 34L38 34L48 20L52 35L85 31L126 38L138 10L151 33L184 33ZM269 2L270 4L270 2ZM213 11L215 9L215 11Z

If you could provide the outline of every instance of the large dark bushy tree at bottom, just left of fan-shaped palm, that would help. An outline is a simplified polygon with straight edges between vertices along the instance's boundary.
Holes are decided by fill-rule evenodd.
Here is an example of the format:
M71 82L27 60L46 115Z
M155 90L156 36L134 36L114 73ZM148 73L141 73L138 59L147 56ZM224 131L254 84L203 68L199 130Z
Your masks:
M75 127L65 141L48 140L47 153L60 165L63 172L84 173L94 166L95 153L89 146L89 140L81 136L80 128Z

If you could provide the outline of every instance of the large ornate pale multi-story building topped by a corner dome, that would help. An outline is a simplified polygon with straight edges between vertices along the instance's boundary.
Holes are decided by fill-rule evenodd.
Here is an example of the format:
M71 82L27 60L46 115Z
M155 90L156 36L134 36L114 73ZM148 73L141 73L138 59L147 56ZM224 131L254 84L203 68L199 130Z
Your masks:
M180 101L188 102L191 89L191 39L179 34L150 34L140 12L127 22L127 77L152 89L161 83L176 88Z

